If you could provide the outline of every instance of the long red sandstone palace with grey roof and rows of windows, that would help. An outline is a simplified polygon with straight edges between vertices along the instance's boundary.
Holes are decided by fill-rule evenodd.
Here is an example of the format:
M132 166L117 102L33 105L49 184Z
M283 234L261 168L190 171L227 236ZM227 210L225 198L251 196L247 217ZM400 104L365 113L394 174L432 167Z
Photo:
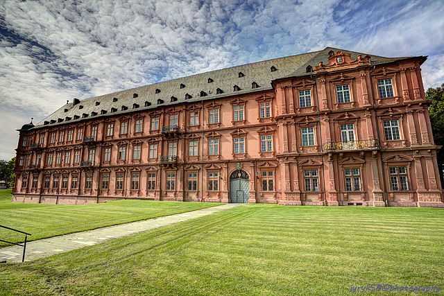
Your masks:
M74 98L19 130L12 200L444 207L426 58L327 47Z

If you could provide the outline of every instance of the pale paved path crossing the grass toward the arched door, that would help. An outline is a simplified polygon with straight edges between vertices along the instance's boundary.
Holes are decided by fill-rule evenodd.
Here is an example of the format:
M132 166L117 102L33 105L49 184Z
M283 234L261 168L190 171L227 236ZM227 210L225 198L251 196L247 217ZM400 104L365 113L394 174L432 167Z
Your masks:
M80 247L85 247L87 245L96 245L105 241L122 238L123 236L130 236L132 234L138 234L139 232L146 232L151 229L171 225L180 221L207 216L219 211L224 211L225 209L232 209L240 205L242 204L222 204L216 207L198 209L196 211L188 211L181 214L108 226L88 230L86 232L66 234L63 236L54 236L52 238L43 238L38 241L30 241L26 243L25 261L33 261L35 259L51 256L53 254L80 249ZM23 247L12 245L10 247L0 248L0 261L6 259L7 262L22 262L22 256Z

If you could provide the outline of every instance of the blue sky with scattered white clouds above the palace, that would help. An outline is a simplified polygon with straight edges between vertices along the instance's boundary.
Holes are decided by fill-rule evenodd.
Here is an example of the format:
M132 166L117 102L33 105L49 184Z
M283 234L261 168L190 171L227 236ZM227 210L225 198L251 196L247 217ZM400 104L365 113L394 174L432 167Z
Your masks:
M72 98L334 46L428 55L444 82L441 0L0 0L0 158Z

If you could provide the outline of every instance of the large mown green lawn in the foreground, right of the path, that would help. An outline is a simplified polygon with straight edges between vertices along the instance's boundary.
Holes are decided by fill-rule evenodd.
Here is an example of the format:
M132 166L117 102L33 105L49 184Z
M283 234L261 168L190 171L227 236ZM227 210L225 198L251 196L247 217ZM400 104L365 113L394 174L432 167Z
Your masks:
M248 204L0 265L0 295L350 295L352 285L444 286L443 247L443 209Z

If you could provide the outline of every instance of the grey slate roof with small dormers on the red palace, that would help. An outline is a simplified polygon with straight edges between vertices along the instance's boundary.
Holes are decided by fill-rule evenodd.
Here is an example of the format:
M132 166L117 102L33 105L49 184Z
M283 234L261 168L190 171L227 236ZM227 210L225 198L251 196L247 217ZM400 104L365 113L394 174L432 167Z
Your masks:
M314 67L321 61L324 62L324 64L327 64L329 51L351 53L351 58L354 60L358 54L366 56L365 53L355 53L353 51L344 51L327 47L322 51L291 55L285 58L276 58L263 62L255 62L252 64L244 64L227 69L200 73L193 76L155 83L153 85L145 85L133 89L126 89L121 92L87 98L81 101L74 99L72 103L67 103L59 110L46 117L46 119L37 123L35 128L71 123L83 119L94 119L100 116L109 116L111 114L116 115L126 114L131 111L151 110L166 105L183 103L185 101L200 102L214 98L223 98L226 96L273 89L271 85L273 80L307 75L305 71L307 65ZM375 64L393 62L400 59L402 58L384 58L376 55L371 56L371 61ZM276 71L271 71L271 67L275 67ZM239 77L239 72L243 73L244 76ZM212 80L210 83L208 82L209 78ZM253 89L253 82L256 82L259 87ZM185 87L180 88L181 85L185 85ZM234 92L234 85L237 85L240 90ZM221 89L223 93L217 94L216 89L218 88ZM158 92L158 90L160 90L160 92ZM207 95L200 96L200 92L205 92ZM186 94L189 94L191 98L185 99ZM177 98L177 100L171 101L171 97ZM117 98L117 101L115 101L115 98ZM158 99L161 99L164 103L157 104ZM146 107L145 102L149 102L151 105ZM137 104L139 107L133 109L133 104ZM122 110L122 106L127 109ZM111 112L114 108L117 111ZM101 114L102 110L106 113ZM78 119L76 119L75 116L78 116ZM45 122L47 123L44 124Z

